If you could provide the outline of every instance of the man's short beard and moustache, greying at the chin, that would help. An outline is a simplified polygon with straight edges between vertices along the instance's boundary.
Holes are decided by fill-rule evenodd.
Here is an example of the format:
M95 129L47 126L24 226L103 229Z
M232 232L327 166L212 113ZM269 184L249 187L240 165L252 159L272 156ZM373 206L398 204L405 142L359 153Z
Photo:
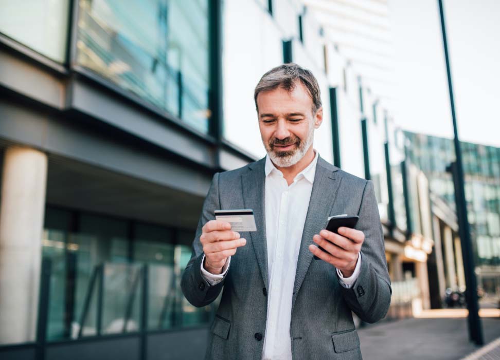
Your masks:
M314 126L311 126L306 140L301 141L298 137L293 136L283 140L271 139L269 143L264 142L265 150L271 161L278 167L290 167L298 163L307 153L314 140ZM275 151L274 145L290 145L298 144L295 149L288 151Z

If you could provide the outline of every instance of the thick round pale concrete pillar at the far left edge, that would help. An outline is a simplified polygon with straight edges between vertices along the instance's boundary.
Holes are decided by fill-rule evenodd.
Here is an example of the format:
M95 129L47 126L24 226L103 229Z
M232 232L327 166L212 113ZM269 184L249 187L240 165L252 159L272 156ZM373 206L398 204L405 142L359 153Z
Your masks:
M47 155L5 150L0 203L0 343L35 340Z

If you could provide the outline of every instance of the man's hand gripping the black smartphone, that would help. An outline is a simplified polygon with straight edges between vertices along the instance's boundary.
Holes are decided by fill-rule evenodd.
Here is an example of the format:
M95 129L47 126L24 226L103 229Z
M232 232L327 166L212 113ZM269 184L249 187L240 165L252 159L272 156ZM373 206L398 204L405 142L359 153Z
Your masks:
M319 235L313 236L313 240L325 251L313 244L309 245L309 251L332 264L345 277L352 275L360 256L361 245L365 241L365 234L362 231L341 227L338 228L338 234L335 234L322 230Z

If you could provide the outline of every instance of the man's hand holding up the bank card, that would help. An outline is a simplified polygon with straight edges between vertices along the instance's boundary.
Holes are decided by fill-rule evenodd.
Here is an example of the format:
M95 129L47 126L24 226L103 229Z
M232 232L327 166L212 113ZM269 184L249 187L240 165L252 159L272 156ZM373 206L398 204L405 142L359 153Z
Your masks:
M200 242L205 253L203 267L211 274L221 274L227 258L236 254L246 239L240 239L239 233L231 231L229 222L210 220L202 228Z

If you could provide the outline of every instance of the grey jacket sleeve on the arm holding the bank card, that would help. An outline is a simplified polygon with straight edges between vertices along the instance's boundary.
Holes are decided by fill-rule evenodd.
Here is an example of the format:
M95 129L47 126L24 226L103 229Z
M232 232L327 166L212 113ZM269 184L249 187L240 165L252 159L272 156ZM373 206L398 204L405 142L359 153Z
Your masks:
M203 261L203 245L200 242L202 228L205 223L210 220L215 220L214 210L220 209L219 198L219 173L215 174L208 190L207 197L203 203L203 210L198 221L196 235L193 241L193 250L191 259L189 260L186 269L182 274L181 288L186 299L195 307L203 307L209 305L219 296L224 285L224 279L211 286L210 283L203 277L201 266ZM226 273L227 275L227 273Z

